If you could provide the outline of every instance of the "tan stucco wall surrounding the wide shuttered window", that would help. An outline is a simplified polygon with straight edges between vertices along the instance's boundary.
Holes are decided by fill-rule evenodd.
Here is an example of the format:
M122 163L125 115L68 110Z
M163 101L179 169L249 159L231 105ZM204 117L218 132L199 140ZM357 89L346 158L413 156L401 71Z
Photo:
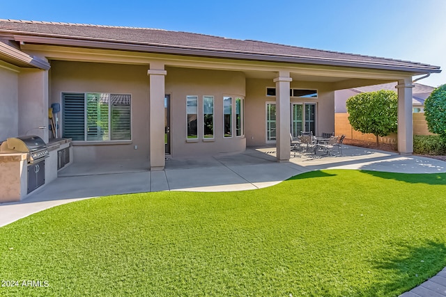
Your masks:
M75 161L148 159L148 65L118 65L52 61L49 105L64 92L125 93L132 95L132 143L93 145L73 143ZM59 118L62 114L59 113ZM62 125L60 125L61 127ZM134 150L134 145L138 146Z

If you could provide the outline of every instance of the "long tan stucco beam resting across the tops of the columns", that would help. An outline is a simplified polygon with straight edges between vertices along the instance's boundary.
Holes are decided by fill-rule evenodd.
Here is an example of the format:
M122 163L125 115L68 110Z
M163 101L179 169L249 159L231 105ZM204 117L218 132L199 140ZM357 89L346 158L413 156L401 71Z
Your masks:
M244 72L259 72L270 79L277 77L277 72L290 72L296 80L302 76L331 77L337 79L379 79L382 81L397 81L406 77L407 72L370 70L352 67L334 67L327 65L307 65L274 63L266 61L244 61L228 58L206 58L193 56L178 56L172 54L153 54L136 51L112 49L86 49L81 47L62 47L54 45L23 44L22 50L30 51L49 60L82 61L95 63L123 63L132 65L149 65L159 61L174 67L190 67L209 70L231 70ZM373 83L372 83L373 84ZM374 83L376 84L376 83ZM342 88L342 86L340 87Z

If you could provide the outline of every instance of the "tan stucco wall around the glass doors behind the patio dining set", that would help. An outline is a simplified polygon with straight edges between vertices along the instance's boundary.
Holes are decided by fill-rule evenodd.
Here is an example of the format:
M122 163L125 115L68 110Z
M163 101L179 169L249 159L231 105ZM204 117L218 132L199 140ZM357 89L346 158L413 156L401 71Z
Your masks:
M266 96L266 88L275 88L272 79L247 79L245 99L247 146L266 144L266 102L275 102L276 99ZM290 88L318 90L316 99L291 97L290 101L316 103L316 134L334 131L334 91L330 83L291 81Z

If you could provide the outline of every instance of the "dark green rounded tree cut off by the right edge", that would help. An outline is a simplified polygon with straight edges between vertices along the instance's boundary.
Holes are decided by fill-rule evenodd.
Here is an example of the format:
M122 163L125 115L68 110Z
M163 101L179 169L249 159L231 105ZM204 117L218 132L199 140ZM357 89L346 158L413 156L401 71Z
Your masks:
M446 141L446 84L433 90L424 101L424 117L429 132Z

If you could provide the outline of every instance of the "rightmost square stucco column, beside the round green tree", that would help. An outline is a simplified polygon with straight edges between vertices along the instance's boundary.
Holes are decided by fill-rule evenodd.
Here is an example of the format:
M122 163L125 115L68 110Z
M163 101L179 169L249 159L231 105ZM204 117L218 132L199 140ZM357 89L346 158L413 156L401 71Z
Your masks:
M412 78L401 79L398 90L398 152L413 153Z

